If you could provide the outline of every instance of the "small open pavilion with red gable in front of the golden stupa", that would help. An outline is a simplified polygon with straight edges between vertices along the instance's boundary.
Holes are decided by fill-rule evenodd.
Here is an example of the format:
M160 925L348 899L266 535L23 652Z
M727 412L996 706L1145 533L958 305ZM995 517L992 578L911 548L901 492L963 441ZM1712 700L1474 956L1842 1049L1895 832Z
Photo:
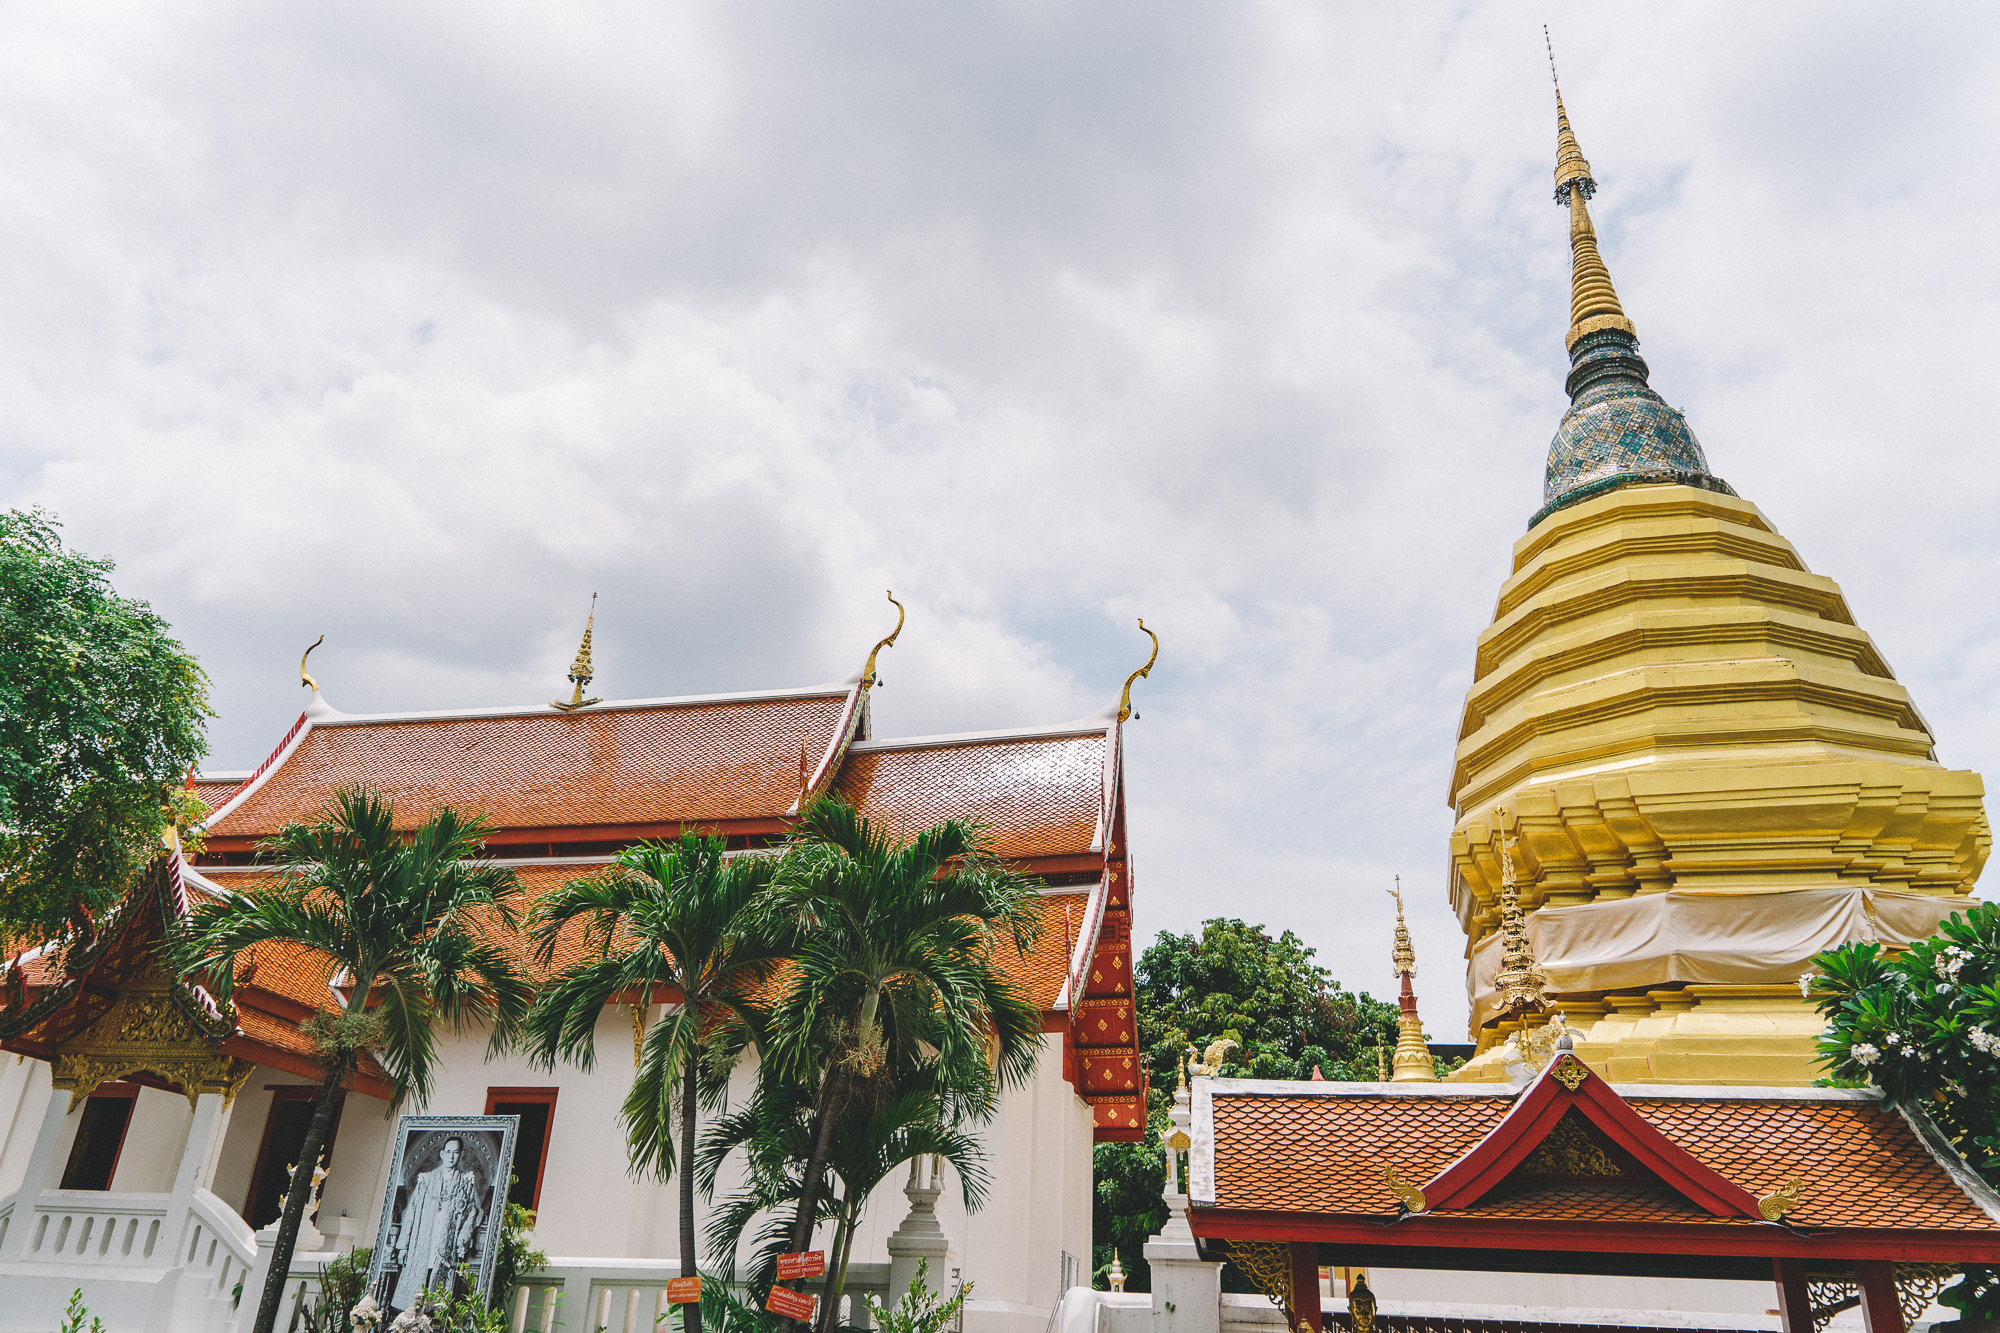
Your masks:
M2000 1195L1872 1089L1614 1087L1564 1037L1522 1087L1196 1079L1186 1115L1196 1243L1300 1333L1322 1267L1770 1281L1786 1333L1904 1333L2000 1263Z

